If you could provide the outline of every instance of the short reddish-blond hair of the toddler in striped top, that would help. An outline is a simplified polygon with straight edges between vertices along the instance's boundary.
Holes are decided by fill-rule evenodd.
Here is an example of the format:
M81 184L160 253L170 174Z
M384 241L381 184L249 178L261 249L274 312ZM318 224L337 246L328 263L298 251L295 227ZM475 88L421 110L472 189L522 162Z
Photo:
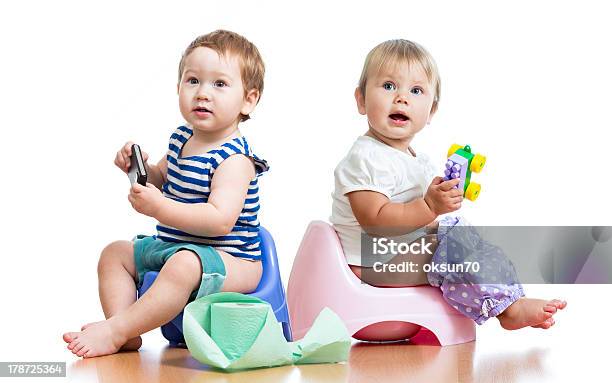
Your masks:
M207 47L219 54L219 56L234 55L238 58L240 65L240 76L242 77L242 86L244 87L244 94L252 89L256 89L259 92L259 99L263 93L263 79L265 73L265 66L259 50L249 40L239 35L238 33L218 29L214 32L207 33L205 35L197 37L189 44L179 63L179 83L185 70L185 60L187 56L194 49L199 47ZM240 114L240 121L246 121L250 117L245 114Z

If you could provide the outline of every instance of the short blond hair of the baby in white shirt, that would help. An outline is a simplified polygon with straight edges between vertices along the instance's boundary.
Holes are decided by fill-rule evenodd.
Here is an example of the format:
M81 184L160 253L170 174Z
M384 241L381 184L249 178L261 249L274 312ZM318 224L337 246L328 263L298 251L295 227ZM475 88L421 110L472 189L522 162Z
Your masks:
M433 57L421 45L404 39L388 40L378 44L368 53L361 77L359 78L359 90L365 96L368 76L378 73L388 65L407 63L409 66L420 65L425 71L427 80L434 88L434 102L431 106L432 112L438 109L440 101L440 74ZM374 72L372 72L374 71Z

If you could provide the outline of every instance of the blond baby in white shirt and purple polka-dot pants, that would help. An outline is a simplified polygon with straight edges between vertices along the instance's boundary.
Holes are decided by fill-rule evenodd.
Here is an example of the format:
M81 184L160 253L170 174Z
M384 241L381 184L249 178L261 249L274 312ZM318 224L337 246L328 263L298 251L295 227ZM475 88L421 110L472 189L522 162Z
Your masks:
M463 191L455 188L459 179L435 177L429 159L411 147L440 100L440 78L431 55L407 40L379 44L366 58L355 99L359 113L367 117L368 129L335 169L330 218L353 273L381 287L439 287L450 305L478 324L496 317L508 330L550 328L565 301L526 298L512 263L500 249L480 240L462 218L436 221L461 207ZM469 238L454 241L451 228ZM371 254L362 247L370 243L362 241L363 233L402 236L404 245L428 251ZM453 259L457 260L451 262L450 249L455 247ZM381 264L386 270L398 270L397 266L411 262L448 266L466 260L479 262L483 270L486 267L486 278L485 273L425 272L412 266L410 272L377 274L385 270Z

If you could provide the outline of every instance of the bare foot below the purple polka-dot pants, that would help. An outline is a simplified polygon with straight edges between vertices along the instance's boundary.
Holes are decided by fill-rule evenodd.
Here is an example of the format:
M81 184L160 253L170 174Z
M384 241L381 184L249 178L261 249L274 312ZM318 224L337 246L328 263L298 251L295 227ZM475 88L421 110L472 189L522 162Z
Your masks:
M553 315L557 310L563 310L565 306L567 302L559 299L547 301L523 297L508 306L497 319L506 330L517 330L527 326L546 330L555 324Z

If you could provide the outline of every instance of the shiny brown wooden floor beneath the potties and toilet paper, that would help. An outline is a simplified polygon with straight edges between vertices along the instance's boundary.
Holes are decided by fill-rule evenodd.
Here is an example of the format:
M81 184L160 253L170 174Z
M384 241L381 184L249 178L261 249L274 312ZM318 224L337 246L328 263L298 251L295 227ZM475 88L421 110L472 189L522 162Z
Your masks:
M284 366L224 373L191 358L188 350L162 347L79 360L69 367L75 382L525 382L565 381L547 371L546 349L516 353L477 350L478 342L436 347L409 343L351 347L340 364ZM554 368L554 366L550 366ZM560 366L561 367L561 366Z

